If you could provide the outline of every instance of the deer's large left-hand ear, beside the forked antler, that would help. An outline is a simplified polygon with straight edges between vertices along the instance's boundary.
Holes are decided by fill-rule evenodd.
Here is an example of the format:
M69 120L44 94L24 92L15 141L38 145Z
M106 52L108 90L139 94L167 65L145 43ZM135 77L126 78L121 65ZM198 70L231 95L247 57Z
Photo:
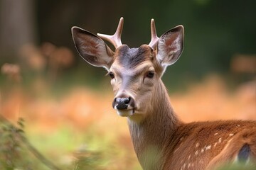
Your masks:
M114 52L97 35L82 28L73 27L72 36L80 56L95 67L110 69Z

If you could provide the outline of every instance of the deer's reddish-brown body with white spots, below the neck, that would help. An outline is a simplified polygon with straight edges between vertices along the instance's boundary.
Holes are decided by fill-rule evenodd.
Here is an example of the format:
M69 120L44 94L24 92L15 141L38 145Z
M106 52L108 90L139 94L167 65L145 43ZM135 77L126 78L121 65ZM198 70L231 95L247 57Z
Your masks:
M250 145L253 153L256 151L255 127L255 121L241 120L182 124L173 136L173 147L169 149L172 152L164 169L213 169L233 162L245 144Z

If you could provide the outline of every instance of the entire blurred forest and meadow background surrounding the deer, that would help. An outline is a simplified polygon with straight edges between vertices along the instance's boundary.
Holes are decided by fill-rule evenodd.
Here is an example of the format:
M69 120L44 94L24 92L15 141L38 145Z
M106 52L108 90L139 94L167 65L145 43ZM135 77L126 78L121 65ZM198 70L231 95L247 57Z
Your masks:
M141 169L126 120L111 108L110 80L75 51L72 26L112 34L124 17L122 42L139 47L150 41L151 18L159 36L182 24L183 54L163 77L176 113L185 122L256 120L255 7L253 0L0 0L0 132L12 134L0 139L0 169L51 169L17 137L23 130L61 169Z

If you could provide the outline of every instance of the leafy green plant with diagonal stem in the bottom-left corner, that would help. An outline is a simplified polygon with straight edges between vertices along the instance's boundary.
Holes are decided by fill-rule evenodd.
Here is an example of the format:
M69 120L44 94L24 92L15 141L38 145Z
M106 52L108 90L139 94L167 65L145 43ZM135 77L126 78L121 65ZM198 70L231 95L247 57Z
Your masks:
M58 167L49 162L28 142L23 131L24 120L22 118L18 119L17 125L13 125L0 117L0 123L0 169L58 170Z

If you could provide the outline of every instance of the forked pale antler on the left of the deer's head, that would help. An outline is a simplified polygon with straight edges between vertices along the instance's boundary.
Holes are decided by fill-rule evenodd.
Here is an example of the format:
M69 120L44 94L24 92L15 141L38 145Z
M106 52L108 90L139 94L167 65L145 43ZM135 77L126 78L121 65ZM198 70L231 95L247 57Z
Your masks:
M103 40L107 40L108 42L112 43L112 45L114 45L114 47L117 49L119 46L122 45L121 35L122 35L123 26L124 26L124 18L121 17L117 26L117 30L114 33L114 35L105 35L100 33L97 33L97 35Z

